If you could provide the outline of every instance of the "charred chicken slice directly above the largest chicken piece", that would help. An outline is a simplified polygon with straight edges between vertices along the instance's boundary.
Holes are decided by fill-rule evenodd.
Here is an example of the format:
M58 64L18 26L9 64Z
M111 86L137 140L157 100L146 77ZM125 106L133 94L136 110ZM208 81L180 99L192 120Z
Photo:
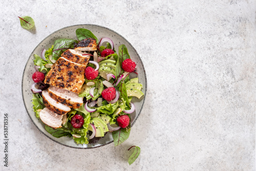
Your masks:
M68 49L67 51L63 52L61 54L61 56L63 58L66 58L72 62L76 62L76 63L79 63L81 65L85 65L87 66L87 63L90 59L90 56L89 55L84 55L84 54L87 54L87 53L84 53L84 52L81 52L81 51L76 51L74 49Z

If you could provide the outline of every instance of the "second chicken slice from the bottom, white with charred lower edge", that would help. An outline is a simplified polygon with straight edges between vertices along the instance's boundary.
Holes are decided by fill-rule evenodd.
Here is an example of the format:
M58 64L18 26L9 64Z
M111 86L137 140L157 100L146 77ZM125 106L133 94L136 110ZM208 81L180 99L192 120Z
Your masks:
M65 115L69 111L71 111L70 107L68 107L64 104L61 104L61 103L57 102L56 100L54 100L53 98L51 98L51 96L49 95L49 93L46 90L42 91L42 100L44 101L46 108L50 109L51 111L53 111L56 114Z

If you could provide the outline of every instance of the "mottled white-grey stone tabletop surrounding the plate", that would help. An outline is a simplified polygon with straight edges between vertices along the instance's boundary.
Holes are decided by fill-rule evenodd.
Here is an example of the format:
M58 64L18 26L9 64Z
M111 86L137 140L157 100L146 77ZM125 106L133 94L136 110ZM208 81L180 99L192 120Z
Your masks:
M255 170L255 1L7 0L0 9L0 170ZM36 32L20 27L24 15ZM30 53L50 33L77 24L115 30L143 60L145 106L120 146L59 145L26 113L21 84ZM141 154L129 166L132 145Z

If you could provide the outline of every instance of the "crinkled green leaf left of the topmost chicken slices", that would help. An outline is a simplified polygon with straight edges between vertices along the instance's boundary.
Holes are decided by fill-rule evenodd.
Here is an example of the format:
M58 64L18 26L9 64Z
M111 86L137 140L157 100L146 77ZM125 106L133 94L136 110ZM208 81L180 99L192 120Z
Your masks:
M53 59L57 60L63 52L68 49L74 48L74 42L77 43L78 41L68 38L60 38L55 40L52 50Z

